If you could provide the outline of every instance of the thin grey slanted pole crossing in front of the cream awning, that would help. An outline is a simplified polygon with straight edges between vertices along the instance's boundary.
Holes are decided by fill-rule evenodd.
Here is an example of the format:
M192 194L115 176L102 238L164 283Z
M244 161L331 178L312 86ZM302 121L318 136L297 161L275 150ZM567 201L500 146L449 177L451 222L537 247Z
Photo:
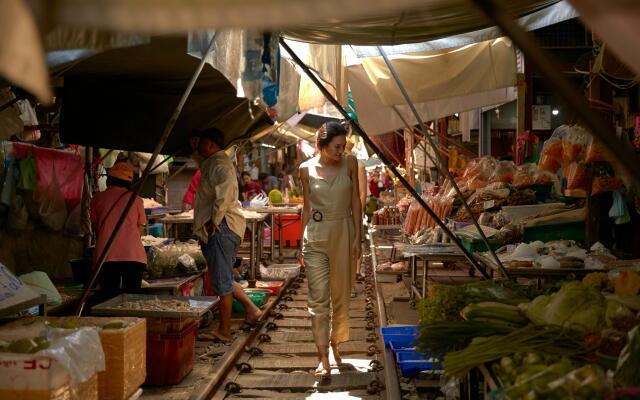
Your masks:
M429 142L429 145L433 149L434 156L435 156L435 158L437 160L437 164L436 165L444 166L445 164L442 161L442 156L440 155L440 152L438 151L438 146L433 141L433 138L429 135L429 133L427 132L426 128L424 127L424 122L422 121L422 118L420 117L420 114L418 113L418 110L416 109L415 105L413 104L413 101L411 100L411 96L409 96L409 92L407 92L407 89L402 84L402 81L400 80L400 75L398 75L398 72L396 71L395 67L393 66L393 64L391 64L391 61L389 60L389 57L387 57L387 53L384 51L382 46L377 46L377 48L378 48L378 52L380 53L380 55L384 59L384 62L387 65L387 68L389 68L389 72L391 72L391 75L393 76L393 79L395 80L396 85L398 85L398 88L400 89L400 92L402 92L402 96L404 97L405 101L407 102L407 105L411 109L411 112L413 113L414 118L418 122L418 126L420 127L420 131L422 131L422 134L424 135L425 139L427 139L427 141ZM451 172L449 172L449 169L446 168L446 167L442 168L441 172L442 172L442 174L444 175L445 178L449 179L449 182L451 182L451 185L453 185L453 189L456 191L456 194L460 198L460 201L462 201L462 206L467 211L467 214L469 214L469 216L471 216L471 220L473 221L473 225L478 230L478 233L480 234L480 237L482 238L482 241L483 241L484 245L487 246L487 250L489 252L491 252L491 255L493 256L493 259L495 260L496 264L500 268L500 272L504 275L505 278L508 279L509 278L509 274L507 273L506 269L502 265L502 262L500 261L500 259L496 255L495 251L493 251L493 249L489 245L489 240L487 239L487 236L484 234L484 231L482 230L482 228L480 228L480 224L478 223L478 220L476 219L476 217L471 212L471 207L469 207L469 204L467 203L467 200L462 195L462 191L458 187L458 184L456 183L456 180L453 179L453 176L451 175ZM447 233L449 234L451 239L453 239L453 237L455 237L455 235L452 232L448 231Z

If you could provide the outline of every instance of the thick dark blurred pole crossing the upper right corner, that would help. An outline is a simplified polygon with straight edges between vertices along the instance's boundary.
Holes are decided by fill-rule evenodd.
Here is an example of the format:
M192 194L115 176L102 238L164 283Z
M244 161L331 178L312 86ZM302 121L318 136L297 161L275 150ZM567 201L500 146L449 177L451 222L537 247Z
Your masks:
M511 38L524 53L526 60L531 61L536 70L547 78L549 87L554 88L554 92L573 109L593 137L613 156L612 161L619 164L634 183L640 184L640 158L615 137L611 127L602 121L598 113L593 112L584 96L562 76L561 69L555 65L549 54L537 46L531 35L519 27L511 16L500 9L498 1L473 0L473 3ZM525 71L526 69L528 67L525 67Z

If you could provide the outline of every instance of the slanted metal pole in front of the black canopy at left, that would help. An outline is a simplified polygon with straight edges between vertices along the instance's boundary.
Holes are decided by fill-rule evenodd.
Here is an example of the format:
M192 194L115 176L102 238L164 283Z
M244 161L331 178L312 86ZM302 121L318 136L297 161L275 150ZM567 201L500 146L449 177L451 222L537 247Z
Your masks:
M96 262L96 265L95 265L95 267L93 269L93 273L91 274L91 278L89 279L89 282L87 283L86 287L84 288L84 292L82 293L82 297L80 298L80 303L78 304L78 307L76 308L76 315L77 316L82 315L82 311L84 309L85 303L87 302L87 297L89 296L89 292L90 292L91 288L93 287L93 285L96 282L96 278L98 277L98 274L100 273L100 270L102 269L102 265L104 264L104 261L106 260L107 255L109 255L109 251L111 250L111 246L113 245L115 237L118 234L118 232L120 231L120 228L122 228L124 220L127 218L127 214L129 213L129 210L131 210L131 207L135 203L136 198L138 197L138 194L140 194L140 190L142 190L142 183L144 181L146 181L146 179L149 177L149 173L152 170L152 165L156 162L156 158L158 158L158 154L160 154L160 152L162 151L162 148L164 147L165 143L167 142L167 139L169 139L169 136L171 135L171 132L173 131L173 127L175 126L176 122L178 121L178 118L180 117L180 114L182 113L182 108L184 107L185 103L187 102L187 99L189 98L189 95L191 94L191 90L195 86L196 81L198 80L198 77L200 76L200 73L202 72L202 69L204 68L204 64L206 62L206 59L209 56L209 54L211 54L211 52L213 51L214 46L215 46L215 35L213 36L213 38L211 38L211 43L209 44L209 48L207 49L207 52L205 54L203 54L202 59L200 60L200 63L198 64L198 67L196 68L195 72L193 73L193 76L191 77L191 80L189 81L189 84L187 85L187 88L184 90L184 93L182 94L182 98L180 98L180 102L178 103L178 105L176 106L175 110L173 111L173 115L171 116L169 121L167 121L167 124L166 124L166 126L164 128L164 132L162 133L162 136L158 140L158 143L156 144L156 147L153 150L153 154L151 155L151 158L149 159L149 163L147 163L147 166L146 166L146 168L144 169L144 171L142 173L142 177L138 181L139 184L135 185L132 188L131 195L129 196L129 200L127 201L127 204L124 207L124 210L122 211L122 214L120 214L120 218L118 218L118 222L116 223L115 227L113 228L113 232L111 232L111 236L109 236L109 240L107 240L107 243L105 245L104 250L102 251L102 253L98 257L98 261Z

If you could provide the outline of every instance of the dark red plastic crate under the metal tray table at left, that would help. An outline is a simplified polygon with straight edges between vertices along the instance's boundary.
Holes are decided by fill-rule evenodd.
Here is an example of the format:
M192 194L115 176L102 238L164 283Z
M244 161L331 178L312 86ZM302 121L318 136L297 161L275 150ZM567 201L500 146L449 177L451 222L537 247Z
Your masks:
M180 333L147 334L146 384L176 385L191 372L197 331L194 321Z

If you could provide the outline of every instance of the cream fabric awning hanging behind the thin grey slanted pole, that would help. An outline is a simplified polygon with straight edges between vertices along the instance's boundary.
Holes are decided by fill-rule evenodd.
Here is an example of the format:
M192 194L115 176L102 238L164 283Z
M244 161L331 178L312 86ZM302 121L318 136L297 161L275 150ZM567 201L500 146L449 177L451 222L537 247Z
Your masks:
M423 120L503 104L517 98L511 43L497 39L455 50L395 56L392 63ZM368 70L367 70L368 68ZM384 62L348 67L358 120L371 135L416 124ZM376 85L377 83L377 85Z

